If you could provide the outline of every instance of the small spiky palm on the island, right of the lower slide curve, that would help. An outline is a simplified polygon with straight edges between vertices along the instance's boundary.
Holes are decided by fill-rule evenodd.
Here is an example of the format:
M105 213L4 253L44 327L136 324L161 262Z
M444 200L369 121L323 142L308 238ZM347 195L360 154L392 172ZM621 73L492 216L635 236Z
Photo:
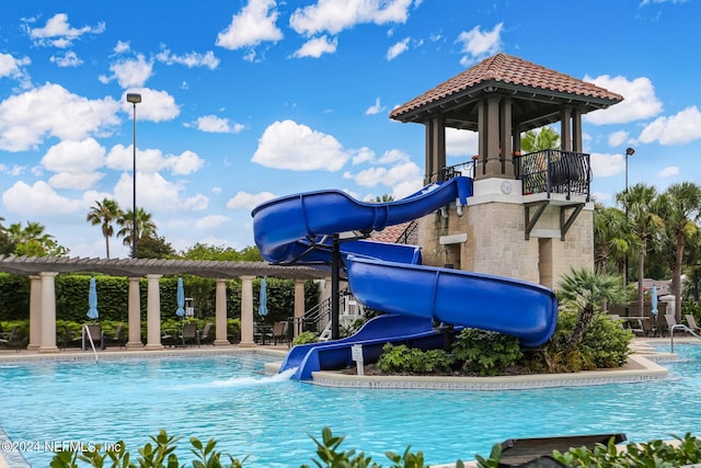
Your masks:
M568 354L582 342L591 326L594 313L601 304L628 301L625 286L619 275L608 275L586 269L573 269L558 285L558 297L578 311L577 323L565 340L563 353Z

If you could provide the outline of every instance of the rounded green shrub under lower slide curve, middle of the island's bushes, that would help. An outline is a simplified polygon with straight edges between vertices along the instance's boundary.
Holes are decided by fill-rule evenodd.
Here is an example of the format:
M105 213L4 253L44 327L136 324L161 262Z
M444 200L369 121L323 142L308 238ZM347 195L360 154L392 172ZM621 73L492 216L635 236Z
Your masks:
M456 365L467 374L506 373L524 356L517 338L492 331L464 329L452 344Z

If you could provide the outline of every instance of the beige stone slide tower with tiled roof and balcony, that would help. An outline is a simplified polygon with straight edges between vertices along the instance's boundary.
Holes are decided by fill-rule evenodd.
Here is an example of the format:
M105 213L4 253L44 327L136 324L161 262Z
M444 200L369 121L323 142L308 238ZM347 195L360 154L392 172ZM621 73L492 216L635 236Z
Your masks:
M425 183L469 167L462 209L418 220L424 263L554 287L594 266L594 204L582 116L623 98L507 54L490 57L391 112L425 126ZM521 134L560 122L560 149L521 155ZM446 165L446 128L476 132L478 155ZM468 174L466 174L468 175Z

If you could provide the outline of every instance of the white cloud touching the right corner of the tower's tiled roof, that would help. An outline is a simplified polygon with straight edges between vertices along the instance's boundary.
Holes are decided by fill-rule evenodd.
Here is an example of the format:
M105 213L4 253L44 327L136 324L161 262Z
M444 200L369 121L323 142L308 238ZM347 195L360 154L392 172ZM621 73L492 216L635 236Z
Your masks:
M621 94L623 101L608 109L594 111L584 115L585 122L594 125L624 124L653 117L662 112L662 102L655 95L655 88L645 77L629 81L625 77L602 75L584 81Z

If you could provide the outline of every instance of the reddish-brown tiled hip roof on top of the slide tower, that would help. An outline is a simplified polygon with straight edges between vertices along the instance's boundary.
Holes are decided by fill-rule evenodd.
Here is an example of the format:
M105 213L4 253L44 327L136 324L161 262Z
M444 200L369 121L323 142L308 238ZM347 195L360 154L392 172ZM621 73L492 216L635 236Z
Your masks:
M402 114L421 107L432 107L433 103L445 101L458 94L464 94L466 91L471 89L481 89L487 85L529 89L535 90L537 93L540 91L541 94L547 95L554 93L563 98L574 98L575 101L596 101L601 104L598 107L607 107L623 100L620 94L593 83L550 70L522 58L501 53L482 60L474 67L397 107L390 113L390 118L401 119Z

